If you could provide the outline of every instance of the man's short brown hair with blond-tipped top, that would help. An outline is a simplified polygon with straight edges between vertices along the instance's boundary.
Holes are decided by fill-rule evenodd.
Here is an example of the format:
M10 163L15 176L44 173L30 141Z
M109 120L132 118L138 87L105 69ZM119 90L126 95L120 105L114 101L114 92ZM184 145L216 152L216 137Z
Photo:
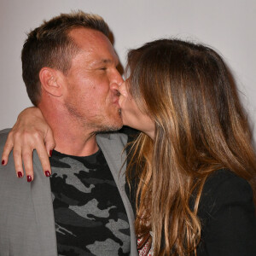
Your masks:
M45 21L27 34L21 53L22 77L32 103L37 106L41 96L39 72L42 67L52 67L67 73L79 46L68 33L74 28L90 28L109 37L108 24L99 15L83 11L61 14Z

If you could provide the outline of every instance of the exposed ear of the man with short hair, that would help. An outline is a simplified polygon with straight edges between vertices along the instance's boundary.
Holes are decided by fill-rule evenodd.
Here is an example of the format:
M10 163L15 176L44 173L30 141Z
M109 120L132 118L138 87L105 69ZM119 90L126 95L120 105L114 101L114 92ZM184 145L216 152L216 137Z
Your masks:
M59 75L58 71L50 67L43 67L39 72L42 89L56 97L62 96L61 78L59 78Z

